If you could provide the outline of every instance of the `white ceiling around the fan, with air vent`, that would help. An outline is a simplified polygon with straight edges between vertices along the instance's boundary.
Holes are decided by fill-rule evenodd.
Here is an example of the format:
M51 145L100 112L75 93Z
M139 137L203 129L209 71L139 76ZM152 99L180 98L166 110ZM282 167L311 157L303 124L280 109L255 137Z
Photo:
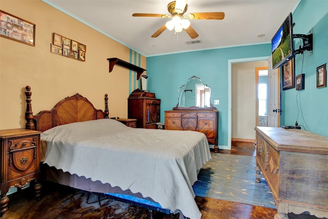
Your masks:
M171 18L133 17L133 13L168 14L171 0L43 0L144 56L270 43L300 0L189 0L185 13L224 12L223 20L190 20L199 36L165 30ZM258 37L265 34L264 37ZM201 43L186 42L200 40Z

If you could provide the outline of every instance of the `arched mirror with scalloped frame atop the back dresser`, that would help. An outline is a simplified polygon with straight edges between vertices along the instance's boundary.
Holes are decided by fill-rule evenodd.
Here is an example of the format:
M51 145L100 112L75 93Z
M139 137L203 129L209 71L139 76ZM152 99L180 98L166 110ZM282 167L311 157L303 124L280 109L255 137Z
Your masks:
M211 88L199 77L192 76L178 90L178 104L173 110L207 109L215 110L211 104Z

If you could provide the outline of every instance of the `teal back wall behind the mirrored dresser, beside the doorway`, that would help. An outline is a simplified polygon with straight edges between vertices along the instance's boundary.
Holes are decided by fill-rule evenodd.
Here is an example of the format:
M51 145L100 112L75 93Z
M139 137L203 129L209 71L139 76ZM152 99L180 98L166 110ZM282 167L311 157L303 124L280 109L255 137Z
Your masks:
M219 145L228 145L228 60L271 55L271 45L230 47L147 57L148 90L161 99L164 111L178 103L178 89L191 76L211 87L212 103L219 99Z

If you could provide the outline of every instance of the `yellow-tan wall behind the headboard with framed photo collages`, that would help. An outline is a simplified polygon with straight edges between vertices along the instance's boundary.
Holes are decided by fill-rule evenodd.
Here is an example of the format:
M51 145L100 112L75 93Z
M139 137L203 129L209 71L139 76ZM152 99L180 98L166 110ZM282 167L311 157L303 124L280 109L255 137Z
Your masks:
M134 63L139 55L40 0L0 0L0 8L36 25L35 47L0 37L0 129L25 127L27 85L31 86L33 114L51 109L75 93L104 110L104 95L108 93L110 116L127 117L127 98L129 90L133 91L135 73L130 75L119 66L109 73L107 58L129 62L133 54ZM86 45L86 62L51 53L53 32ZM146 68L144 56L140 56L140 67Z

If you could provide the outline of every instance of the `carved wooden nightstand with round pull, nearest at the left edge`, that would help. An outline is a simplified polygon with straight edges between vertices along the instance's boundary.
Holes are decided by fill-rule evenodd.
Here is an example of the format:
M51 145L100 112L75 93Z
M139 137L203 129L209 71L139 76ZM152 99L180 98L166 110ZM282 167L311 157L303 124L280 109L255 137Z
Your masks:
M8 210L10 187L21 189L31 181L40 197L40 131L28 129L0 130L1 140L1 216Z

